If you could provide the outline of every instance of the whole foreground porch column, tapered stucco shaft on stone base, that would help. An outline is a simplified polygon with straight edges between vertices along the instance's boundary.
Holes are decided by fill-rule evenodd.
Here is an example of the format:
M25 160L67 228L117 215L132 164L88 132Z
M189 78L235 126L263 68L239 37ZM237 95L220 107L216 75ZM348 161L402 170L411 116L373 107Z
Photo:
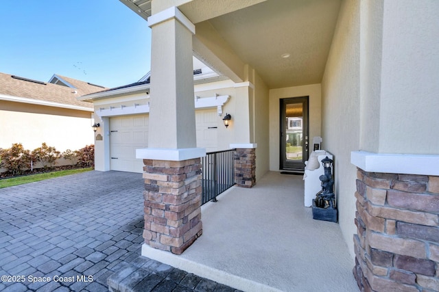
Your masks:
M172 7L148 18L152 28L150 126L143 159L145 244L181 254L202 234L201 164L196 148L192 35L194 25Z

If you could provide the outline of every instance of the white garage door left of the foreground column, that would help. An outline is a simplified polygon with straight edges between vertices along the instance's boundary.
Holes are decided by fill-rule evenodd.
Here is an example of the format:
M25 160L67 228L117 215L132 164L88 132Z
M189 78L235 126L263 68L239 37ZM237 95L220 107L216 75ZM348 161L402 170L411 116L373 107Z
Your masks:
M142 159L136 159L136 149L148 145L149 115L110 118L110 169L123 172L143 172Z

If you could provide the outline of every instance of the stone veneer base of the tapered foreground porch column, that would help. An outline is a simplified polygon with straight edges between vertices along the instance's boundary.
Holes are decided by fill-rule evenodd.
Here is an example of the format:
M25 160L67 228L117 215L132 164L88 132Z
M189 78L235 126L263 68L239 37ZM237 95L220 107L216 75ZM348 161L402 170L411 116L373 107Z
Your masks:
M145 243L181 254L202 235L200 158L143 163Z

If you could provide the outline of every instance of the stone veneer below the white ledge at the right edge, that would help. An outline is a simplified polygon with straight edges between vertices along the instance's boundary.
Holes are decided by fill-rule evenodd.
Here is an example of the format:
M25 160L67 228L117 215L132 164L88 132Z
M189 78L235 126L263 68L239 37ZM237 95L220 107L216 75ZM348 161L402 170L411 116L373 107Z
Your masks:
M361 291L439 291L439 176L357 169Z

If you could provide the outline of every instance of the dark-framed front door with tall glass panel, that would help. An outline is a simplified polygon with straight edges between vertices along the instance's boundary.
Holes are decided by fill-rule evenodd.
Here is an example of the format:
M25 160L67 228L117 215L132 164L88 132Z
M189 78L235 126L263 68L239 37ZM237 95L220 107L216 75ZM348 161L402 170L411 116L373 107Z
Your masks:
M309 145L308 99L308 96L281 99L281 170L305 170Z

